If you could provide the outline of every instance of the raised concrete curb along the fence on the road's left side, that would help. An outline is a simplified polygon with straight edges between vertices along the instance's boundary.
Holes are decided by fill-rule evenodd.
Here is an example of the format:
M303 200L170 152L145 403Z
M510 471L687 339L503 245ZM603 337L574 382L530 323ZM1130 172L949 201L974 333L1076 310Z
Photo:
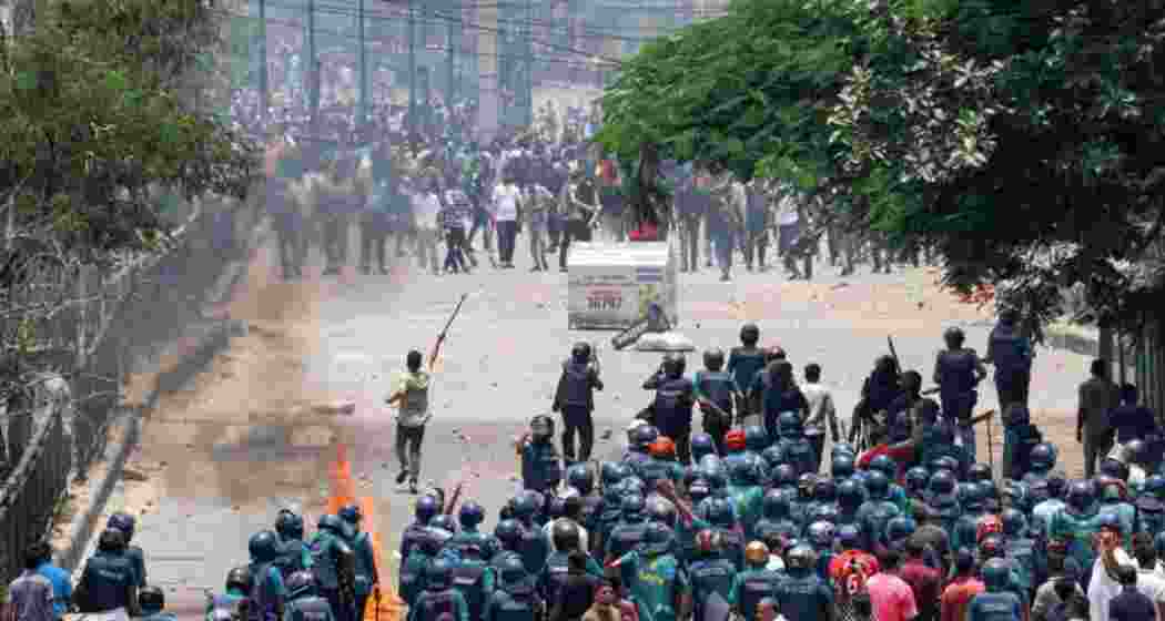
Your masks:
M243 256L231 262L223 271L223 275L212 289L210 304L223 302L246 275L247 268L250 264L252 252L266 241L268 223L269 220L263 218L256 225L255 231L248 240L249 246ZM154 389L140 408L125 411L111 423L113 425L126 425L126 433L120 444L114 444L106 449L105 458L110 460L110 467L106 470L105 477L92 481L90 489L93 493L90 495L89 506L73 516L69 523L69 543L57 555L57 565L65 571L75 572L80 564L82 557L85 555L89 542L97 528L97 518L105 510L105 506L113 494L113 488L121 479L129 453L141 438L142 417L157 405L163 395L181 389L191 377L205 368L219 352L226 350L231 344L231 337L239 333L236 322L230 318L197 324L193 330L196 333L191 338L196 339L197 343L192 351L184 355L175 368L157 379ZM191 329L186 331L189 332ZM184 339L171 343L169 348L181 346L182 340Z

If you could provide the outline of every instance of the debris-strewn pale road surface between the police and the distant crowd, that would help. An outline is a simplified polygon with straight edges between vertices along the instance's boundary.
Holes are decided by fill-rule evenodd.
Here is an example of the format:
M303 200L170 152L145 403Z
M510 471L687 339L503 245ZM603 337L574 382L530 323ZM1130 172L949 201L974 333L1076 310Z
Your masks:
M518 247L522 246L518 241ZM167 400L146 424L127 482L111 509L141 514L135 543L147 551L150 581L167 587L183 616L193 615L206 588L220 588L230 567L246 560L247 538L273 523L278 508L305 511L309 524L330 495L327 472L344 444L361 495L374 499L375 523L397 548L415 497L395 485L391 411L380 405L410 348L428 351L457 298L467 292L435 380L435 421L426 431L423 478L451 487L490 510L489 523L514 489L509 443L529 418L548 410L559 365L576 340L607 343L610 333L566 330L565 275L488 267L472 275L431 277L398 264L389 276L281 283L271 249L256 259L231 312L250 331L190 388ZM784 282L779 271L718 282L713 270L683 275L682 331L702 350L736 344L743 320L760 324L762 344L779 344L798 368L816 361L848 416L862 377L894 334L905 368L930 376L947 325L962 325L983 347L989 317L953 302L934 274L840 278L828 268L812 284ZM318 273L318 270L317 270ZM607 389L596 396L598 429L613 430L598 452L619 450L621 429L648 401L640 388L658 354L601 351ZM689 368L699 365L699 352ZM1075 386L1087 360L1042 350L1032 405L1051 429L1074 416ZM313 405L351 400L351 416ZM982 408L995 407L994 390ZM309 529L311 530L311 529ZM386 558L391 563L391 558Z

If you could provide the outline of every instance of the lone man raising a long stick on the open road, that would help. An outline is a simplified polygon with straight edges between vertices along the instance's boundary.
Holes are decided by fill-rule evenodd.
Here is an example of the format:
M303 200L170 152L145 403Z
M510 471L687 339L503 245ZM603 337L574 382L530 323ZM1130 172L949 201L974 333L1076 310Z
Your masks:
M461 296L445 329L437 336L437 343L429 353L425 369L421 368L421 352L410 351L404 358L405 372L397 380L396 390L384 400L389 405L398 408L396 456L401 460L401 473L396 475L396 484L402 485L408 479L410 494L417 493L417 479L421 477L421 443L425 438L425 425L432 418L432 412L429 410L429 388L432 386L433 365L437 362L442 344L445 343L449 326L461 310L465 297Z

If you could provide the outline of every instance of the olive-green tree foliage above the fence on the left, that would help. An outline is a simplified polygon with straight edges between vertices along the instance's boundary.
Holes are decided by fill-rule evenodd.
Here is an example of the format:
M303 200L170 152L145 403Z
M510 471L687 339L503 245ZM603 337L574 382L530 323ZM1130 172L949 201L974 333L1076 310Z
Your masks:
M0 197L86 260L148 249L162 189L243 197L255 146L186 101L218 14L184 0L48 2L0 71Z

